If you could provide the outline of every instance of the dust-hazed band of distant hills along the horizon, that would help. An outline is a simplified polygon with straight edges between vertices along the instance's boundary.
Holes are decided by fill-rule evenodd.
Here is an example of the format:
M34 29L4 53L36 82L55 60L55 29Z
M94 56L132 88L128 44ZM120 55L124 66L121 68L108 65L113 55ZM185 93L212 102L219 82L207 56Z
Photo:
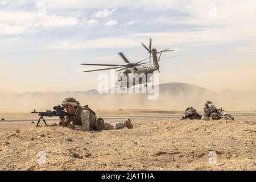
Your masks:
M235 92L225 90L212 92L200 86L171 82L159 85L157 100L148 100L147 94L100 94L92 89L86 92L25 92L1 93L0 113L29 112L32 109L46 110L60 104L67 97L75 97L81 105L88 104L96 109L155 109L185 110L193 106L203 110L205 101L232 111L255 111L256 91Z

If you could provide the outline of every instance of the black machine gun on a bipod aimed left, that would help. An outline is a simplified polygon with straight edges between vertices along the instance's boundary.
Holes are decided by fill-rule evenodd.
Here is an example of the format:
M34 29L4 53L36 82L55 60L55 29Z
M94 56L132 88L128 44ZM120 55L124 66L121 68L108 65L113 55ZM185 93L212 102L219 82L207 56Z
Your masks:
M38 119L38 124L36 125L36 127L38 127L39 122L41 121L41 119L43 119L43 122L46 124L46 120L44 120L44 116L46 117L53 117L53 116L59 116L60 119L64 119L65 115L67 115L68 113L65 112L64 107L57 105L53 107L53 111L51 110L46 110L46 112L36 112L36 110L34 109L34 111L31 111L32 114L38 114L40 117Z

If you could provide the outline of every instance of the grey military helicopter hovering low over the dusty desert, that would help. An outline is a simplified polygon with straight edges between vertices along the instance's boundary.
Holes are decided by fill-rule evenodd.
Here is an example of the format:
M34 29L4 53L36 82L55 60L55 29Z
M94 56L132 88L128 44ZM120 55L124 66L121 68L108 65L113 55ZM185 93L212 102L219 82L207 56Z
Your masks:
M159 61L160 57L162 56L163 52L171 52L174 50L170 50L169 48L164 49L163 51L157 51L156 48L151 48L152 46L152 39L150 38L149 41L149 46L145 46L143 42L141 43L142 46L147 50L149 53L149 57L146 59L143 59L141 61L138 61L137 63L130 63L130 61L126 58L126 56L122 53L119 52L118 55L122 57L123 61L127 64L87 64L87 63L82 63L81 65L96 65L96 66L105 66L105 67L111 67L111 68L104 68L104 69L93 69L89 71L84 71L84 72L94 72L94 71L104 71L104 70L109 70L109 69L118 69L118 78L117 82L115 82L115 85L121 86L121 87L126 87L129 88L130 86L138 85L138 84L144 84L144 86L147 86L148 82L151 82L152 79L152 74L155 71L159 71ZM159 57L157 56L160 53ZM180 55L178 55L180 56ZM153 59L153 64L151 64L151 57ZM176 57L176 56L173 56ZM143 61L146 61L147 59L150 59L150 62L143 63ZM123 72L121 72L123 71ZM133 77L132 81L125 80L124 84L124 79L123 77L128 77L128 75L144 75L146 79L142 79L142 77ZM148 77L151 76L151 77ZM137 80L136 80L137 79Z

